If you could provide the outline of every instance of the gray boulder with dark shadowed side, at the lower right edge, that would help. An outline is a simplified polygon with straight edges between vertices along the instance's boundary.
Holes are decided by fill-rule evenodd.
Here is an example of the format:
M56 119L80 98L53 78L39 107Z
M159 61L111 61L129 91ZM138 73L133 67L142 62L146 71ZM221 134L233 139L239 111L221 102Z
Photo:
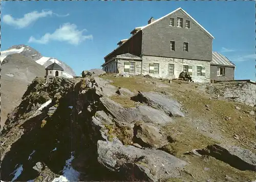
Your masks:
M240 170L256 171L256 156L250 150L223 144L209 145L197 150L202 155L210 155Z

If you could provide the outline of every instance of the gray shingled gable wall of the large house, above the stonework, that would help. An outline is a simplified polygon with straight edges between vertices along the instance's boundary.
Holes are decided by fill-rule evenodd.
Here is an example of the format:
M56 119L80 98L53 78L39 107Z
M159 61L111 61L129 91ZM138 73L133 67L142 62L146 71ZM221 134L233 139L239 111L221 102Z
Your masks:
M183 27L177 27L177 17L183 19ZM174 18L174 26L169 26ZM190 28L185 28L189 20ZM155 24L142 30L142 55L211 61L212 37L187 16L178 10ZM170 41L175 41L175 51L170 50ZM183 51L183 43L188 42L188 51Z

